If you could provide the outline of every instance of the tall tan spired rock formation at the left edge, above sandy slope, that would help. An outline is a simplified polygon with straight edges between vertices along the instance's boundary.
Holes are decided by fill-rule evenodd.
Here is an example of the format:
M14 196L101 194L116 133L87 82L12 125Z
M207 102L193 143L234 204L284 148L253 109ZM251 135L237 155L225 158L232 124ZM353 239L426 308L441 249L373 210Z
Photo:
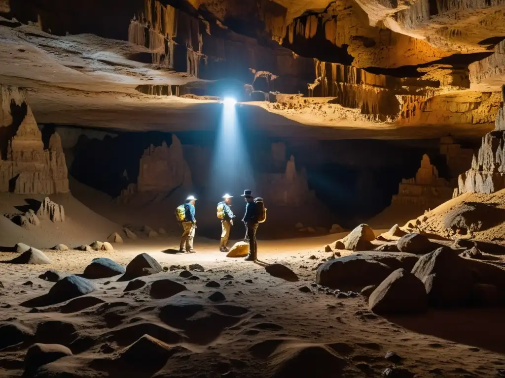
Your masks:
M57 133L44 150L24 93L19 88L0 85L0 192L18 194L68 193L68 170Z

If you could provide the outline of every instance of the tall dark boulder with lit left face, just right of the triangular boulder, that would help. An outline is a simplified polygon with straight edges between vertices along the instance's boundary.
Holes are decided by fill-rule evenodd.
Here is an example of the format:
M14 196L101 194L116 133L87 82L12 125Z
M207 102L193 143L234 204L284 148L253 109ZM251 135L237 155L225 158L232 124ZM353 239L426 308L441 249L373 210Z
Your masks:
M448 247L422 256L412 273L423 282L432 305L464 305L472 299L475 275L467 261Z

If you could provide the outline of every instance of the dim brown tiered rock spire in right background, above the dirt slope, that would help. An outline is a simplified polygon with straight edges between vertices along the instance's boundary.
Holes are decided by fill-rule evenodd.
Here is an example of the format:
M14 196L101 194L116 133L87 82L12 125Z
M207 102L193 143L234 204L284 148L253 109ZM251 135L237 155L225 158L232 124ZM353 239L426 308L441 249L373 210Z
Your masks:
M431 164L428 155L423 155L416 177L401 180L398 194L391 200L391 207L414 205L430 209L450 200L451 196L452 188L449 182L438 176L438 171Z

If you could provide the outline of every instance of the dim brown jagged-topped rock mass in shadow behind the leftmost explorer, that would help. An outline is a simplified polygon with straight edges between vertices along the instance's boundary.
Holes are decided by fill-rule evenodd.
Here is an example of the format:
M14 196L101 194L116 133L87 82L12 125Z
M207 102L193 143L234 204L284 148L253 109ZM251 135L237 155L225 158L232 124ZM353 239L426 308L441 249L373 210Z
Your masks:
M151 145L140 158L137 183L130 183L121 198L127 200L135 193L171 193L181 186L191 185L191 172L184 160L179 139L172 135L168 147L164 141L161 146Z

